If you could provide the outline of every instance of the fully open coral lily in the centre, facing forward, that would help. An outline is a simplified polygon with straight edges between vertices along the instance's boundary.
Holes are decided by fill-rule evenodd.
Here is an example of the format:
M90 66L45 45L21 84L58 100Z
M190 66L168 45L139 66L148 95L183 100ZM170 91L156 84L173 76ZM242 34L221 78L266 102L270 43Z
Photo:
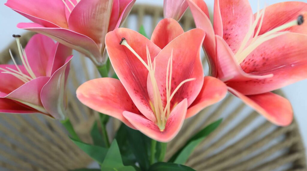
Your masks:
M151 40L118 28L106 36L111 64L119 77L98 78L77 89L86 106L113 116L161 142L172 140L185 118L223 99L226 85L204 77L200 49L204 31L184 32L163 19Z

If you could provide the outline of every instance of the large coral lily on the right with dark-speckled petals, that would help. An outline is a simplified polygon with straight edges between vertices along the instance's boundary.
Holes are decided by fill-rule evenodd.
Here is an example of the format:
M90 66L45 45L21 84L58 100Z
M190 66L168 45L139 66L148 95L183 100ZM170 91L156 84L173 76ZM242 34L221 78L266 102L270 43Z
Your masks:
M289 125L290 102L270 91L307 78L307 4L282 2L253 14L247 0L215 0L212 26L205 2L187 1L206 32L212 75L272 123Z

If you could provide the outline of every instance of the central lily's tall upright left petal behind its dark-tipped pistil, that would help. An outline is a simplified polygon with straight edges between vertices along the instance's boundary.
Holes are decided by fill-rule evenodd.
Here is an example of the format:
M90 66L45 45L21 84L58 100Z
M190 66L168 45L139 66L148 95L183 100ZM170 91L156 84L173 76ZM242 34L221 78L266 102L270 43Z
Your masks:
M143 35L127 28L115 29L106 36L107 52L117 76L141 113L154 122L156 118L150 108L147 93L148 70L128 48L119 44L122 38L126 38L144 61L147 61L146 46L152 60L161 49Z

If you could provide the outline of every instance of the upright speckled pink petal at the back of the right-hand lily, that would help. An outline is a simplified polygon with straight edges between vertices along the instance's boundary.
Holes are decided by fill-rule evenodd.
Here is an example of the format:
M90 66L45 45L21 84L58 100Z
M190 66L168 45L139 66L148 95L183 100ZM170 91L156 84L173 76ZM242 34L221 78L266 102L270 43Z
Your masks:
M220 16L223 21L223 39L231 50L236 53L254 22L251 5L248 0L219 0L219 2L215 3L214 8L216 13L220 10ZM220 9L218 10L218 8ZM217 24L219 26L219 22Z

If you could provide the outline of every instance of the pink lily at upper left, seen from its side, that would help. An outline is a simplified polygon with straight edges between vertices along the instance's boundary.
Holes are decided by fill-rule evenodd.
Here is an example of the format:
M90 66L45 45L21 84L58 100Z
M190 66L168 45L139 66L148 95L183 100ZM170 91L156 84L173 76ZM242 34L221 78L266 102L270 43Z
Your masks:
M118 28L135 0L8 0L6 6L33 23L18 28L47 35L76 49L94 64L105 63L105 36Z

